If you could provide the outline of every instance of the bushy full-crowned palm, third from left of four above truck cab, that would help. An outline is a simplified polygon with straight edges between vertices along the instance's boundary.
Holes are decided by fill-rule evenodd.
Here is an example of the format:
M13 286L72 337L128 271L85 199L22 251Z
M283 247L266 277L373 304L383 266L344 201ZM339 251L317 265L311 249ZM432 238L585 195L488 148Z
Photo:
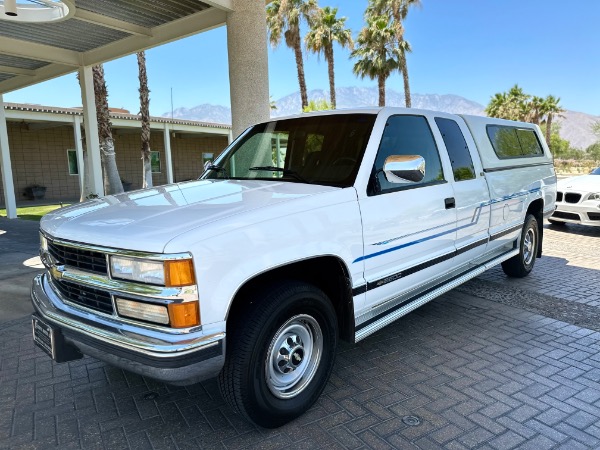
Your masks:
M358 34L357 48L350 55L357 58L354 73L361 78L377 78L379 106L385 106L385 82L394 70L400 68L399 49L395 45L395 32L385 16L367 16L367 26ZM406 50L410 50L405 42Z

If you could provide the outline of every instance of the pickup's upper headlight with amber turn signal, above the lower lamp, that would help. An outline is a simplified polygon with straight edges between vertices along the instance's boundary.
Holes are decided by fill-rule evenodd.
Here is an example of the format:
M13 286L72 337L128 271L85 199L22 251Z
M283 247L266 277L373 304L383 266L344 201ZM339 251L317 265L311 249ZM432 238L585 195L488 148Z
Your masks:
M196 282L191 259L157 261L111 256L110 273L120 280L167 287L190 286Z

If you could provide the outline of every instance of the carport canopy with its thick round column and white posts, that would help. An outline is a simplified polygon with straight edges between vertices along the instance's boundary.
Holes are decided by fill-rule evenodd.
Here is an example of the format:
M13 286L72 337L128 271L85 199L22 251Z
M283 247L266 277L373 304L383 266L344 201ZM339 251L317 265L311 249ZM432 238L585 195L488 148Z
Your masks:
M16 217L16 204L2 94L79 71L90 186L102 195L91 67L227 25L237 135L269 118L264 8L264 0L1 1L0 167L8 217Z

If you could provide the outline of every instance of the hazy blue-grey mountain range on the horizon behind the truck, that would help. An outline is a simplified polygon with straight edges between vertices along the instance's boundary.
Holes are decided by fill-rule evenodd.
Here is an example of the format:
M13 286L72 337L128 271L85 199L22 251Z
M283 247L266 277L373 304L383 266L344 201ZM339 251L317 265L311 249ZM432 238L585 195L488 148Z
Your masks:
M377 105L378 91L374 87L343 87L336 89L336 97L337 107L340 109L360 108ZM308 92L308 98L329 100L329 91L314 89ZM272 117L297 114L302 109L299 92L282 97L275 104L277 109L271 112ZM387 89L386 105L404 106L404 93ZM453 114L485 115L483 105L451 94L412 94L412 106L418 109L431 109ZM171 113L165 113L162 116L170 117ZM202 104L193 108L177 108L173 111L173 118L230 124L231 110L227 106ZM598 141L591 130L591 125L598 121L600 121L600 116L577 111L565 111L563 117L556 119L556 122L560 124L560 136L568 140L572 147L579 149L585 149Z

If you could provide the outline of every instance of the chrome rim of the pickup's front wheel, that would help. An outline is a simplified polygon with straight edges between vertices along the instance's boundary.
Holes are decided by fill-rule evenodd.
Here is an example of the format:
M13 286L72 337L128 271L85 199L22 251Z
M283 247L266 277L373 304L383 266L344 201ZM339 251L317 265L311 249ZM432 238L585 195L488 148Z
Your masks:
M289 399L300 394L314 378L323 354L323 332L311 316L300 314L275 333L265 362L271 393Z

